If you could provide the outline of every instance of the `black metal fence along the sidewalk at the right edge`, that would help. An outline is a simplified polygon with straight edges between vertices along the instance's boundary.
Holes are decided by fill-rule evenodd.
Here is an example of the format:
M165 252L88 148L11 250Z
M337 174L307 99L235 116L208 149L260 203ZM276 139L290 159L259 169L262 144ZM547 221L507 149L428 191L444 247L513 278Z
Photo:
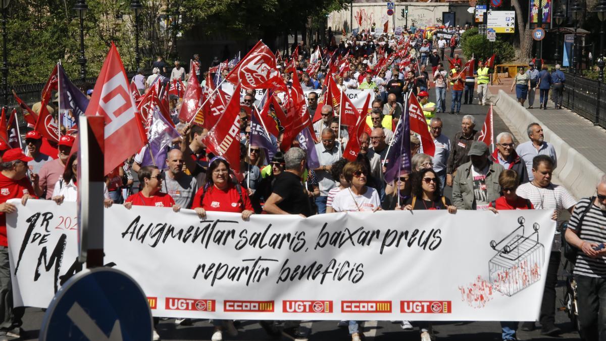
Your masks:
M562 106L606 128L606 84L564 72L566 85Z

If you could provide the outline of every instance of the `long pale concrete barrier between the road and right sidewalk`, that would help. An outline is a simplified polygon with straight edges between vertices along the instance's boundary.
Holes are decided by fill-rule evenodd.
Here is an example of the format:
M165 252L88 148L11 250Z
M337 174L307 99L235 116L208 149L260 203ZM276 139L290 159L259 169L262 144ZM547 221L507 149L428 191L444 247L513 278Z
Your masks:
M562 140L547 125L539 121L536 116L503 90L499 90L495 106L499 109L499 113L505 116L504 118L507 118L511 127L516 129L518 135L522 137L521 143L530 141L526 133L528 124L533 122L541 124L543 133L545 134L545 141L553 144L558 156L558 165L554 170L554 174L558 176L570 194L576 198L584 198L595 193L596 184L602 175L604 175L604 172L594 166L578 150Z

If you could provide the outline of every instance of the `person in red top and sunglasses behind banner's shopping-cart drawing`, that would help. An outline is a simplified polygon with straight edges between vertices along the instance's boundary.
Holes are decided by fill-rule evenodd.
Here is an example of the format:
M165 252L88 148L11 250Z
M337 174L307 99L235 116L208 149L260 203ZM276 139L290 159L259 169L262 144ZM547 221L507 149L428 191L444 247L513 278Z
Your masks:
M530 200L518 197L516 194L519 184L518 173L511 169L503 170L499 175L499 185L503 195L488 204L488 211L498 213L499 209L534 209ZM516 331L518 331L518 322L501 322L503 340L518 340Z

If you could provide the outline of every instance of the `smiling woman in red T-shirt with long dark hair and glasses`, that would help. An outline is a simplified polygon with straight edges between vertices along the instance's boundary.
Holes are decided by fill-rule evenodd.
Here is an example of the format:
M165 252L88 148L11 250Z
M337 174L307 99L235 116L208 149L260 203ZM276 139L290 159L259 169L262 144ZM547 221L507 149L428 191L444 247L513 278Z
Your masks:
M206 183L198 189L191 205L201 218L206 216L206 211L242 213L244 220L254 213L247 191L239 187L232 174L224 158L210 160Z

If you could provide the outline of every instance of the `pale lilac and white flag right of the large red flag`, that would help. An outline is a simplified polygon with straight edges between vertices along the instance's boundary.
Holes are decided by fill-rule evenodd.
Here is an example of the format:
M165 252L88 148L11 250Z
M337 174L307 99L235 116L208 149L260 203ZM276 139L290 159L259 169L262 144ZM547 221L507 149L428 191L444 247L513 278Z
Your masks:
M154 165L164 169L168 147L171 146L174 138L179 137L179 133L166 121L158 106L154 107L151 115L151 124L147 131L148 144L141 166Z

